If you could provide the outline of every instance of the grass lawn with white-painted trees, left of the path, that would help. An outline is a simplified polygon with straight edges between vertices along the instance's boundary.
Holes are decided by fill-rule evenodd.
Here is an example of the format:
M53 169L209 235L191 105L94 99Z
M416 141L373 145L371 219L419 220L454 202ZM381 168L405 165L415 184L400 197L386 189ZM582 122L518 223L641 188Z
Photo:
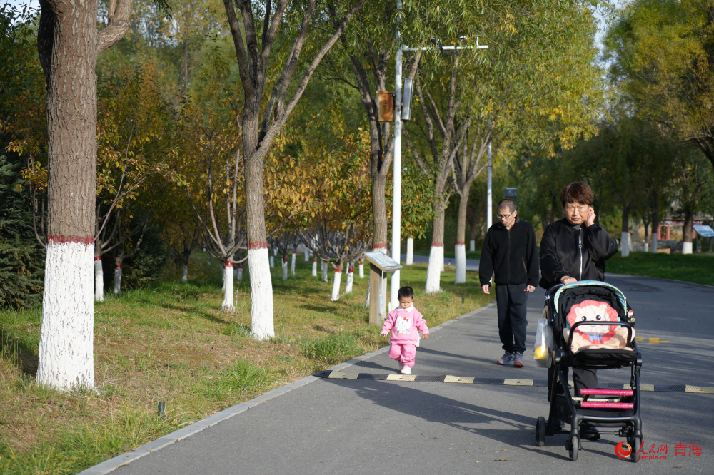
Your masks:
M94 392L34 384L41 310L0 312L0 473L75 474L386 344L378 327L367 325L366 278L356 277L353 295L330 302L332 282L311 277L302 255L297 263L286 281L280 267L273 270L276 337L267 342L248 336L247 268L236 312L224 313L220 265L205 255L189 266L194 280L174 275L108 295L95 304ZM466 285L453 279L453 270L443 272L443 292L425 295L426 265L401 272L430 327L492 300L479 291L475 272L467 272ZM164 419L156 414L159 401L166 402Z

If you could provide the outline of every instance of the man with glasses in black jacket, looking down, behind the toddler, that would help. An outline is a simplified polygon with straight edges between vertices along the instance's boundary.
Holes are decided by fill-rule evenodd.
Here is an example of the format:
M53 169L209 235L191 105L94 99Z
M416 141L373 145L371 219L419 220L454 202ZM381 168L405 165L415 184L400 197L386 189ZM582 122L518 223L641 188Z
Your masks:
M518 219L516 203L498 203L497 223L488 228L483 240L478 276L483 292L488 294L491 275L496 274L498 336L503 343L503 357L497 364L523 367L526 351L526 302L538 282L538 249L533 225Z

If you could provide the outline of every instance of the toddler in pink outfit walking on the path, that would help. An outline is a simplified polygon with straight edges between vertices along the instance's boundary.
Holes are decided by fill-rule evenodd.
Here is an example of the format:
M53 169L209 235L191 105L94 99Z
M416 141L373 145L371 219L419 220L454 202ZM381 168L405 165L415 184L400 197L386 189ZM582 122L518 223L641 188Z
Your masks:
M401 287L397 297L399 307L389 312L382 327L382 336L386 337L388 332L392 332L389 337L389 357L398 360L401 374L411 374L419 342L419 330L424 339L428 339L429 329L423 315L412 305L414 290L411 287Z

